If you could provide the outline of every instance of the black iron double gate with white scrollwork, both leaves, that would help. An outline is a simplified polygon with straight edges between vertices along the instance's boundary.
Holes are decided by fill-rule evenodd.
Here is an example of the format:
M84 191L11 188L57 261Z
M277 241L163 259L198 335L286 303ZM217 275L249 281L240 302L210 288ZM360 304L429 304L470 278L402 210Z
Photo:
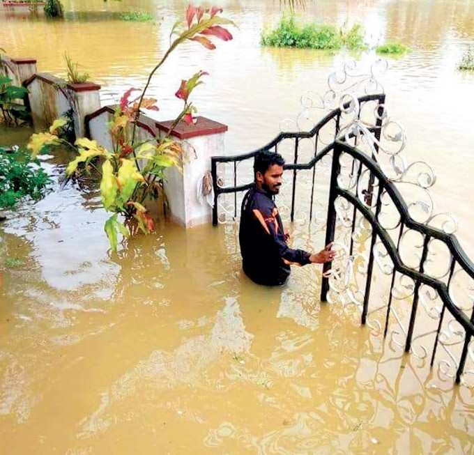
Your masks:
M379 103L379 109L384 109L385 95L367 95L359 98L358 101L360 105L364 102L376 101ZM345 109L346 105L343 108ZM381 113L380 110L378 112ZM342 267L342 274L337 267L340 263L336 263L336 260L332 264L326 263L323 267L321 300L332 301L336 297L343 302L344 308L349 304L355 305L360 311L362 324L367 323L371 328L378 325L379 332L383 331L384 337L390 334L391 343L403 347L407 353L413 353L421 359L431 357L430 367L434 366L436 357L438 374L455 378L456 383L466 378L467 374L474 377L474 298L469 293L467 293L467 298L463 298L463 302L454 298L454 288L459 272L464 273L465 277L471 280L469 281L471 287L463 285L463 290L468 288L472 291L471 294L474 294L473 261L468 258L456 236L452 233L429 226L428 221L418 222L412 217L410 206L403 199L396 182L388 178L374 159L374 155L370 157L355 146L351 146L347 141L348 136L345 140L337 139L341 116L342 109L335 109L309 132L282 132L266 146L250 153L212 157L211 169L215 197L213 224L218 222L217 202L219 196L234 194L234 215L236 216L236 194L247 190L253 184L252 175L252 181L237 185L236 164L238 162L252 160L260 151L278 151L278 144L284 139L294 140L293 162L284 166L285 169L293 172L291 188L291 221L293 221L297 172L313 170L312 200L316 163L323 157L332 155L325 244L332 241L337 242L337 233L344 231L344 229L349 231L349 240L345 245L342 245L346 260ZM319 131L330 121L335 121L335 138L331 144L318 150ZM379 116L376 117L376 124L368 130L376 138L374 149L378 152L381 137L381 118ZM305 138L315 139L314 156L308 162L298 162L298 141ZM342 164L348 159L350 164L344 168ZM217 176L217 164L229 162L233 163L234 185L224 187L222 183L220 184L219 176ZM347 178L348 176L349 178ZM341 177L346 177L346 179ZM391 206L398 219L397 224L390 226L390 228L383 224L384 210L388 206ZM311 211L312 206L309 208L309 219L312 216ZM363 230L360 228L361 221L367 224L365 238L359 232ZM398 229L397 234L392 232L393 229ZM404 236L410 232L414 232L422 238L420 245L411 247L411 249L419 248L421 250L418 255L420 261L415 266L408 264L401 254ZM392 236L395 237L395 240ZM363 246L367 243L367 247L364 249L365 254L355 252L354 243L360 242L360 238L362 238ZM436 247L435 241L441 242L450 256L450 259L445 261L446 271L442 276L429 271L431 255L435 254L433 251L434 246ZM381 264L382 259L385 260L385 265ZM358 265L356 266L355 262L357 261ZM373 297L372 301L370 298L371 285L375 275L374 263L379 265L383 274L390 277L390 291L386 302L379 297ZM360 289L356 275L363 275L364 284L360 286ZM408 279L411 284L409 286L405 283L402 284L403 279ZM400 296L400 288L404 288L405 295ZM431 306L425 302L424 295L428 294L427 290L431 290L429 291L432 300ZM407 305L408 300L411 300L411 304ZM384 303L381 304L381 301ZM400 306L397 307L398 304ZM372 320L373 314L382 316ZM393 329L394 326L395 329ZM399 337L403 337L403 340L397 341ZM441 353L438 349L440 347ZM470 369L466 369L466 362L471 362L469 363Z

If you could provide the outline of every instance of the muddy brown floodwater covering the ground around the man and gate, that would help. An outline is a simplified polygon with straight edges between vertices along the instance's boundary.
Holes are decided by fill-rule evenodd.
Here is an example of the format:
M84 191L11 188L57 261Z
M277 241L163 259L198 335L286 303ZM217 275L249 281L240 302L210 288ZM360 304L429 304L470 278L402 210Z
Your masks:
M185 6L64 3L65 21L0 7L0 47L56 74L68 51L102 84L103 102L144 85ZM181 78L208 70L196 105L229 125L227 153L240 153L294 118L300 94L324 92L347 56L259 47L277 3L221 2L239 25L234 40L173 56L153 82L160 118L177 111ZM118 20L132 9L156 22ZM406 157L434 167L437 211L457 215L473 257L474 75L456 70L474 43L473 1L321 0L307 16L360 22L372 45L413 47L390 60L388 109L406 127ZM26 133L0 130L0 144ZM1 454L474 453L473 390L321 304L318 267L293 270L284 288L254 285L240 272L236 226L162 222L110 255L96 190L59 190L66 159L45 161L54 191L0 226ZM293 236L316 242L304 229Z

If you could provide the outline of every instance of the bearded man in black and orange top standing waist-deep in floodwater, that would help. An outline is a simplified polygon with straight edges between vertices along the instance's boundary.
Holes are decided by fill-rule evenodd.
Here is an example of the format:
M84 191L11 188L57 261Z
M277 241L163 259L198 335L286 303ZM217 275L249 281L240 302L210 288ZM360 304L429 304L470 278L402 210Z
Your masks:
M244 196L240 213L240 252L245 275L257 284L277 286L290 275L290 265L332 261L335 252L327 245L319 253L291 249L273 196L280 192L284 158L260 152L254 162L254 187Z

